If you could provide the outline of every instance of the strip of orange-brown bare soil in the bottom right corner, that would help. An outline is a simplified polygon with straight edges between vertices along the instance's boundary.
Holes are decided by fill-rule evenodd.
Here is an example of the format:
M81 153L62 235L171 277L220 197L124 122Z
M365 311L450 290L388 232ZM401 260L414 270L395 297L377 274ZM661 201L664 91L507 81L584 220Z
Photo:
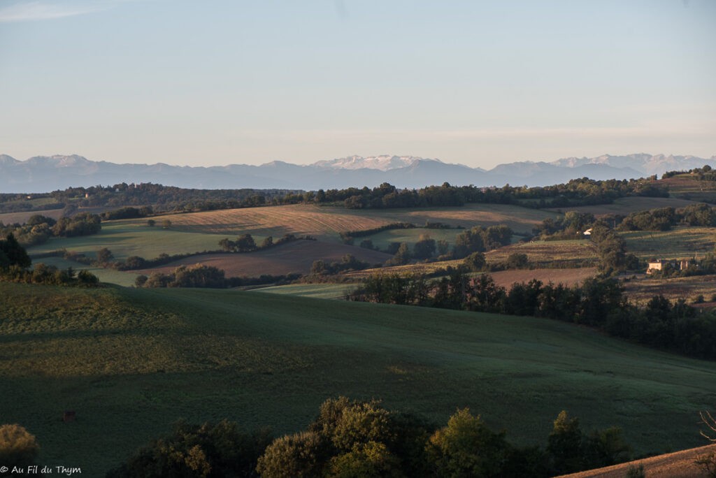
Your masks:
M629 467L639 467L639 465L644 467L644 472L649 478L706 478L710 475L699 469L694 461L710 453L716 453L716 444L592 469L588 472L564 474L558 478L624 478Z

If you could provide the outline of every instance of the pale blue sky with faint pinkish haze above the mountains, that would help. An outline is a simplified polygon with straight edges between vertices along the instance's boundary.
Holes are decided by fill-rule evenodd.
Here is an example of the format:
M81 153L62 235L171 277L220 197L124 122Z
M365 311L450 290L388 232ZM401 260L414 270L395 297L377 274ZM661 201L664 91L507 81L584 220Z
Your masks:
M0 153L716 155L716 0L0 0Z

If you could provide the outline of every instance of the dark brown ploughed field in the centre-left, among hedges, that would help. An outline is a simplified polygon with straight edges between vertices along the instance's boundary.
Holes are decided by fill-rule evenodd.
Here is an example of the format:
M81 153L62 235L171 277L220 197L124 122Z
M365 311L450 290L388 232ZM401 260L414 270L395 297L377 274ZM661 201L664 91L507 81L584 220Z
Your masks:
M193 255L175 260L158 268L136 270L135 273L149 275L153 272L170 273L180 265L203 264L223 269L226 277L257 277L262 274L283 275L288 273L309 273L314 260L339 262L346 254L352 254L370 264L384 263L390 255L377 250L358 248L352 245L323 243L316 240L296 240L267 250L253 253L218 253Z

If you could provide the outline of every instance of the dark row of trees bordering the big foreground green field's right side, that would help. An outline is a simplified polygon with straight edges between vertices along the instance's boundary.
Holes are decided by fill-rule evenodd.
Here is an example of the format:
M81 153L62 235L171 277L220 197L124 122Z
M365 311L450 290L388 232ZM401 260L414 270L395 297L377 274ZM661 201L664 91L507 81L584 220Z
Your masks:
M598 328L646 346L716 360L716 314L697 312L683 300L654 296L647 306L629 303L611 278L589 278L581 286L533 279L507 291L488 274L465 269L430 281L423 275L374 274L347 295L350 301L395 303L463 311L545 317Z

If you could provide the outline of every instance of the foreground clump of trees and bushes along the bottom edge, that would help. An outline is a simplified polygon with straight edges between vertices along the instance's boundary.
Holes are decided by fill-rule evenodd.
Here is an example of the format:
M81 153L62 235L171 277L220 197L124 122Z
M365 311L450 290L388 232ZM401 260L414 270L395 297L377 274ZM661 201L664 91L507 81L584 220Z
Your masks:
M627 461L621 430L584 433L562 411L546 447L516 447L458 409L445 426L379 401L329 399L306 430L273 438L236 423L180 422L107 473L125 477L548 477Z

